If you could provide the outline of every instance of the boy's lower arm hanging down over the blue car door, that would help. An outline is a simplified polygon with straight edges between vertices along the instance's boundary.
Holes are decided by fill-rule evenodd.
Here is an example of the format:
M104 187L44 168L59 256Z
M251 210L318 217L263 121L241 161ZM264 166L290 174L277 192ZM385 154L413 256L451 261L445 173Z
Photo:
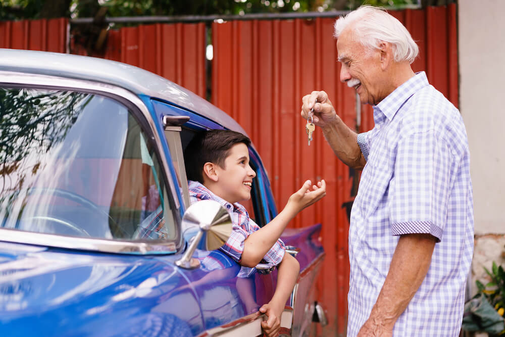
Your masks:
M280 330L281 315L284 311L286 301L293 291L299 271L300 264L298 261L290 254L285 253L284 258L279 264L274 296L269 303L260 308L260 312L268 316L266 321L261 322L263 331L268 337L276 336Z

